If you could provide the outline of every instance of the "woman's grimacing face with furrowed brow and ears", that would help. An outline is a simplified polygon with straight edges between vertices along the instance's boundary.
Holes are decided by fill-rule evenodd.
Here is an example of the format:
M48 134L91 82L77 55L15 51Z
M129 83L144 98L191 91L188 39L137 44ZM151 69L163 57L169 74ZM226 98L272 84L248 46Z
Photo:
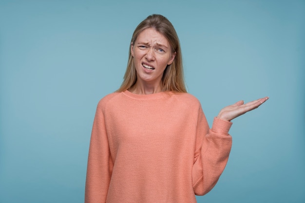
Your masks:
M163 72L172 64L175 53L162 34L153 28L142 31L131 46L137 83L161 85Z

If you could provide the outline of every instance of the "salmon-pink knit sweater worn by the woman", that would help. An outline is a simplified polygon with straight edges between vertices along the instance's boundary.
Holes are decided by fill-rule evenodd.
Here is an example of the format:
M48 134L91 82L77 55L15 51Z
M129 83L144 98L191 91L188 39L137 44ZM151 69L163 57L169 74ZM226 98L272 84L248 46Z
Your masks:
M195 203L223 172L231 122L189 93L115 92L97 105L85 203Z

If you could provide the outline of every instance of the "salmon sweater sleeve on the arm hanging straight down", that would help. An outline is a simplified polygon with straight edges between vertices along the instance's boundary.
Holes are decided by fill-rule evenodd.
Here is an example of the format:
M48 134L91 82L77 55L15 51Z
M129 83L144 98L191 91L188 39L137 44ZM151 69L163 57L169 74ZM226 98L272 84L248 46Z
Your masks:
M102 112L102 102L97 105L90 140L85 203L105 203L113 170L113 161Z

